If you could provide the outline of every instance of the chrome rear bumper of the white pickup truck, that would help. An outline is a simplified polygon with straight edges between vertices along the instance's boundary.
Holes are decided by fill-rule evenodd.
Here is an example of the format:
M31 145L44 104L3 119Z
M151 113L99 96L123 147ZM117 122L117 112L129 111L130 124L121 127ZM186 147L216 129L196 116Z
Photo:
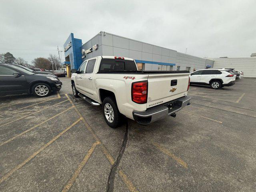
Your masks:
M172 100L170 102L152 107L144 112L133 112L133 118L139 124L150 124L157 120L166 118L167 116L174 116L176 112L190 104L191 97L185 96Z

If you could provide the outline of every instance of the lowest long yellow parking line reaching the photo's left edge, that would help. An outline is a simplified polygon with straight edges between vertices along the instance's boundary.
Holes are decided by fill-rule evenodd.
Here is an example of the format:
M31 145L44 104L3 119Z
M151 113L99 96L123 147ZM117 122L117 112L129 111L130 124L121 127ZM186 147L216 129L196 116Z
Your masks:
M66 133L68 130L70 130L70 128L72 128L73 126L75 126L78 122L80 122L81 118L79 118L78 120L76 120L76 122L74 122L72 125L70 125L68 128L64 129L62 132L60 132L57 136L55 136L52 140L50 140L47 144L45 144L44 146L42 146L39 150L37 150L36 152L34 152L34 154L32 154L29 158L27 158L25 161L23 161L22 163L18 164L16 167L14 167L12 170L10 170L5 176L3 176L0 179L0 183L2 183L3 181L5 181L6 179L8 179L16 170L22 168L24 165L26 165L30 160L32 160L36 155L38 155L40 152L42 152L42 150L44 150L46 147L50 146L50 144L52 144L54 141L56 141L58 138L60 138L60 136L62 136L64 133Z

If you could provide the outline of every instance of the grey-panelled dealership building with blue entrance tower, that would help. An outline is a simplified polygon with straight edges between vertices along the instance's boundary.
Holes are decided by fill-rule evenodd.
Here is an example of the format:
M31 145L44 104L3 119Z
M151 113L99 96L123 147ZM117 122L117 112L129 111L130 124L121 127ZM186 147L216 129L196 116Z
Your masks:
M102 55L133 58L138 70L188 70L193 72L213 67L214 60L216 60L180 53L103 31L84 44L81 39L74 38L74 34L71 33L64 44L64 54L65 61L62 64L67 66L68 73L70 73L70 68L78 69L84 60Z

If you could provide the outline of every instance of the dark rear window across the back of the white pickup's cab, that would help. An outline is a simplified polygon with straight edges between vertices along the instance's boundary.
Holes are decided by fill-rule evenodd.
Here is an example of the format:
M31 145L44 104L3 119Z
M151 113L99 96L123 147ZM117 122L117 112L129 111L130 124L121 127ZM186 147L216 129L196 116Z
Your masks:
M108 71L137 71L137 68L133 60L103 58L100 62L99 72Z

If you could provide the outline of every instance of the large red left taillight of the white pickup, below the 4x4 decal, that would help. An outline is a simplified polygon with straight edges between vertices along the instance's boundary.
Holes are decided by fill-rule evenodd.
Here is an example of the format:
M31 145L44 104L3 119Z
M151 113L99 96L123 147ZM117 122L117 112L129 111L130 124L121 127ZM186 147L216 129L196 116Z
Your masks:
M138 104L147 102L148 97L148 81L140 81L132 83L132 101Z

